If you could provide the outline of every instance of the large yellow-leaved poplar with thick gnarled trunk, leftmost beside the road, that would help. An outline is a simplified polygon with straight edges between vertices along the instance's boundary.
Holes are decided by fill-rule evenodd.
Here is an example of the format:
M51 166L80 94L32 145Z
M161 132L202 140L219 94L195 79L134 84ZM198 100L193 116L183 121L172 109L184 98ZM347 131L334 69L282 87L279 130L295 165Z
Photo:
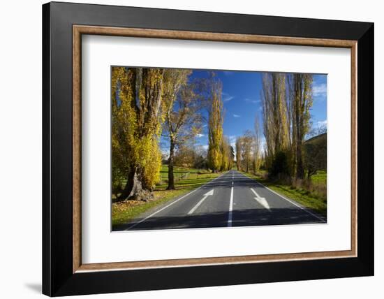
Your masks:
M119 200L147 200L159 180L163 73L162 68L112 68L112 163L124 161L126 175Z

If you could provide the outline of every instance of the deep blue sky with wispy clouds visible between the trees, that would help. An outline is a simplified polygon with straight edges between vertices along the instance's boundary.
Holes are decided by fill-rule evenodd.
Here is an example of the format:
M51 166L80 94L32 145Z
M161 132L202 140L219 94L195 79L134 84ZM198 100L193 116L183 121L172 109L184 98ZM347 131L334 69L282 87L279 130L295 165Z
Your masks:
M262 128L260 91L262 89L262 72L246 71L215 71L216 78L223 83L223 103L225 118L223 124L224 135L235 143L237 136L241 136L247 129L253 131L255 116L257 115ZM208 71L194 70L191 78L207 78ZM313 75L313 106L311 108L311 122L313 126L327 122L327 75ZM166 140L162 140L164 152ZM207 126L201 136L196 137L196 144L207 147Z

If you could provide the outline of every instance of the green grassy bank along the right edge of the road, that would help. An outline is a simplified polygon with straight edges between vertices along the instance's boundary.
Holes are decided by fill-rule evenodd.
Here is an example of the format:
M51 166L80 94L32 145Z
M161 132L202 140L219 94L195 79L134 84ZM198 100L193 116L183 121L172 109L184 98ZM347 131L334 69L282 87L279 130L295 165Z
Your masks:
M263 179L260 175L253 175L251 173L243 173L247 177L251 177L261 184L265 185L269 189L272 189L273 191L276 191L277 193L281 194L282 196L286 196L290 199L293 199L297 201L297 203L300 203L304 207L308 207L309 209L317 212L318 214L321 214L323 216L327 216L327 198L324 196L318 196L317 194L308 191L306 189L302 188L296 188L293 186L289 186L286 184L279 184L276 182L269 182L266 179ZM313 182L319 182L320 179L323 180L322 184L326 182L327 180L327 173L319 173L319 177L315 178L315 181Z

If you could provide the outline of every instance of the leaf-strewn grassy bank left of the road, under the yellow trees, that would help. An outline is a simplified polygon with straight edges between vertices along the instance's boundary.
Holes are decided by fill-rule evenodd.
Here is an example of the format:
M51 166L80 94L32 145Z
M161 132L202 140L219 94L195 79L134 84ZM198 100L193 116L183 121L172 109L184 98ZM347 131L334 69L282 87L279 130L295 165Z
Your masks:
M162 170L165 169L165 167L166 166L162 166ZM203 184L207 184L207 182L221 175L221 173L202 173L200 170L199 173L202 174L199 174L197 170L191 168L179 168L176 171L179 173L190 173L188 179L180 180L175 183L176 190L165 190L167 188L167 183L164 179L163 184L156 186L153 200L147 202L141 200L127 200L122 203L112 203L112 226L125 224L139 214L152 209L152 207L166 203L177 196L187 194L189 191L192 191Z

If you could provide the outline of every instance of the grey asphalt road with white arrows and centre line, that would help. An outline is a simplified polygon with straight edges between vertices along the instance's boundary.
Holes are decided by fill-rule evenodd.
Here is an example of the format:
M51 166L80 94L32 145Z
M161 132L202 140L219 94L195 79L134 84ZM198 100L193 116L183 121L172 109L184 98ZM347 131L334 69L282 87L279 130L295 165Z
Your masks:
M325 219L236 170L149 210L114 231L325 223Z

